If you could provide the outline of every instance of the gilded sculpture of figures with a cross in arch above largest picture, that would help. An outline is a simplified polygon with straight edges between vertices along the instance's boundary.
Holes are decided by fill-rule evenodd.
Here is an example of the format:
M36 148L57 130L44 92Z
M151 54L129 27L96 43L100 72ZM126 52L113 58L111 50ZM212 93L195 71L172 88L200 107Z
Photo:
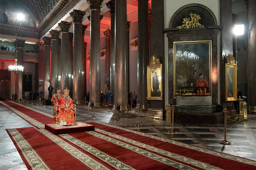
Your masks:
M178 26L177 28L195 28L195 27L204 27L202 24L199 23L199 20L201 19L200 15L197 15L195 13L189 14L190 17L188 18L183 18L183 25Z

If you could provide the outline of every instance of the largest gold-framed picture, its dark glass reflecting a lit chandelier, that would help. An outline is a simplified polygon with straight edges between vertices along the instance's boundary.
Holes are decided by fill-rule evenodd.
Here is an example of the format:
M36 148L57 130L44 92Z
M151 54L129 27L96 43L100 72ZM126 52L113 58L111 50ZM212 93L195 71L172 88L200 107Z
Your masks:
M173 42L174 98L177 95L195 95L193 89L196 89L200 74L208 84L204 95L212 95L211 48L211 40Z

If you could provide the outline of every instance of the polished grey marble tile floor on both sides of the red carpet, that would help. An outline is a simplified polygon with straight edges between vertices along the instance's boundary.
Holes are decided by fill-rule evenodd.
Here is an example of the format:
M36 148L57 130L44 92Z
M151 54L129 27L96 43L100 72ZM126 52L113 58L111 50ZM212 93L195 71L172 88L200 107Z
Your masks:
M24 103L23 101L16 102L46 113L52 114L53 112L51 106L44 108L42 101L40 101L39 106L37 106L37 102L33 104L31 101L28 103L26 101ZM253 114L248 114L248 120L244 122L235 121L235 117L228 119L227 141L230 141L231 145L219 144L219 141L224 140L224 124L174 124L174 130L177 133L171 134L168 133L171 130L171 124L163 120L146 118L144 112L139 113L139 123L142 124L140 128L135 126L138 123L137 113L117 113L119 120L113 121L115 114L108 112L107 108L103 107L95 109L96 118L92 118L92 115L93 109L77 106L77 121L101 121L256 161L256 115ZM27 169L5 130L23 127L32 126L0 104L0 170Z

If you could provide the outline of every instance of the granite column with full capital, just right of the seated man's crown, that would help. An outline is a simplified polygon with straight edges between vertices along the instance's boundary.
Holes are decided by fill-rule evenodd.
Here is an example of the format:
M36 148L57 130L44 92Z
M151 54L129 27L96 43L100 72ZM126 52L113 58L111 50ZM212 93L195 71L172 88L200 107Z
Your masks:
M73 42L73 99L76 103L84 99L84 67L83 67L83 37L82 20L85 12L73 10L70 13L73 18L74 42Z

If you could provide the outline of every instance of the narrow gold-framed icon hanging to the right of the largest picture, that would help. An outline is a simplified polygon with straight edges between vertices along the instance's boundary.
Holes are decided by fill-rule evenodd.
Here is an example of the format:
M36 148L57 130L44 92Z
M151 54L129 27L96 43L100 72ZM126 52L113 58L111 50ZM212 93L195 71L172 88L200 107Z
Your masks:
M225 64L226 101L237 100L237 65Z

